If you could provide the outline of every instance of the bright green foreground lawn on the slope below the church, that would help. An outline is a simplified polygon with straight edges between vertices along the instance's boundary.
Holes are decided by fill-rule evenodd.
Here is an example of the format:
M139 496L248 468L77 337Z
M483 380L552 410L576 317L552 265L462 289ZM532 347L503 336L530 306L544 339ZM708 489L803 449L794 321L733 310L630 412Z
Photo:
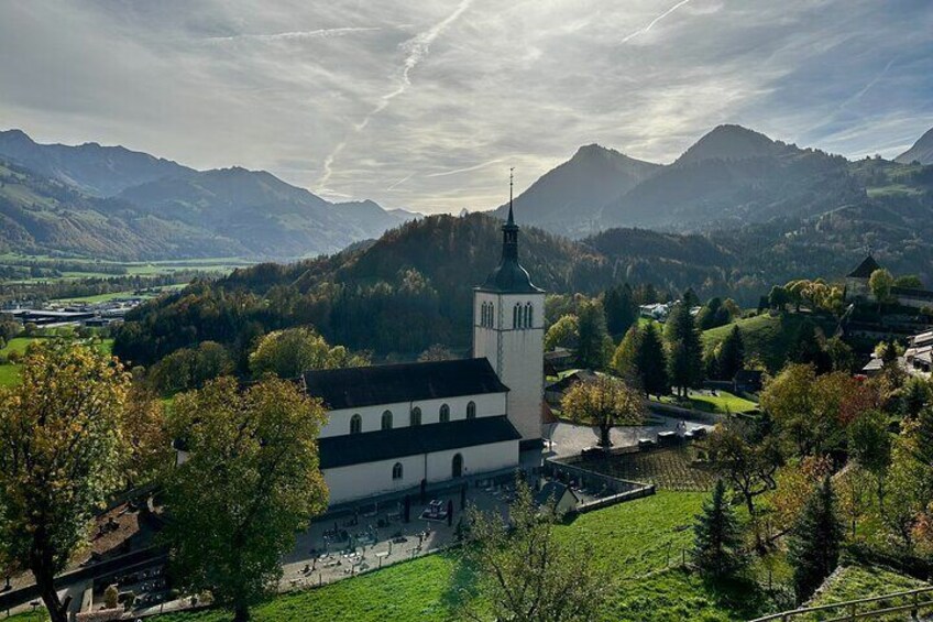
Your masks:
M601 620L744 620L769 610L754 587L724 591L674 568L691 546L690 525L703 495L660 492L577 517L558 528L573 543L592 543L597 565L612 572L613 590ZM668 568L670 564L670 568ZM257 622L304 620L382 621L462 619L461 588L473 574L443 553L389 566L321 589L293 592L254 611ZM220 622L215 610L160 616L160 622Z

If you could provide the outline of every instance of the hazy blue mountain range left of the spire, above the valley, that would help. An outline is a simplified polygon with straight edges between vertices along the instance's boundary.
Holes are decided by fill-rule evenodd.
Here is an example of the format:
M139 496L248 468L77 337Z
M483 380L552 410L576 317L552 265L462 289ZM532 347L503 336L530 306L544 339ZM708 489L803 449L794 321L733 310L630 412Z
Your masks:
M196 171L122 146L0 132L0 250L102 259L297 258L416 218L327 201L265 171Z

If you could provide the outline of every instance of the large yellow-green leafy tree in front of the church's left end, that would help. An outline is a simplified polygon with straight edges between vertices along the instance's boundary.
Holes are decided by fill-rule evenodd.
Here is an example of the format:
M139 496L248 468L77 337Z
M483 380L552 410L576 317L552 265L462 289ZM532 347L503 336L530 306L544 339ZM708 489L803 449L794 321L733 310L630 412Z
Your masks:
M166 538L179 585L210 590L239 622L273 592L282 555L327 506L317 436L321 405L271 377L241 391L224 378L175 401L190 458L166 484Z

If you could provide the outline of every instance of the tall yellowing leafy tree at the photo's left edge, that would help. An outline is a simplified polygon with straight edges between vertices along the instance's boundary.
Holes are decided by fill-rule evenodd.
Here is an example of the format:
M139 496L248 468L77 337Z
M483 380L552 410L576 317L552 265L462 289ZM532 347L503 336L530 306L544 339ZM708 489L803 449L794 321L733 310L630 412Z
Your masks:
M30 348L22 383L0 389L0 558L32 571L53 622L53 579L121 481L129 374L80 345Z

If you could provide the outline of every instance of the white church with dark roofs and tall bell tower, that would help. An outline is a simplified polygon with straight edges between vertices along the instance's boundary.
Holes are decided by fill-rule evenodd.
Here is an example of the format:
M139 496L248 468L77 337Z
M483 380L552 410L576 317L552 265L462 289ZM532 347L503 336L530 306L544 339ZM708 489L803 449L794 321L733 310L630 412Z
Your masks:
M514 469L541 446L545 292L518 262L512 207L502 260L473 290L473 358L309 371L327 408L330 504Z

